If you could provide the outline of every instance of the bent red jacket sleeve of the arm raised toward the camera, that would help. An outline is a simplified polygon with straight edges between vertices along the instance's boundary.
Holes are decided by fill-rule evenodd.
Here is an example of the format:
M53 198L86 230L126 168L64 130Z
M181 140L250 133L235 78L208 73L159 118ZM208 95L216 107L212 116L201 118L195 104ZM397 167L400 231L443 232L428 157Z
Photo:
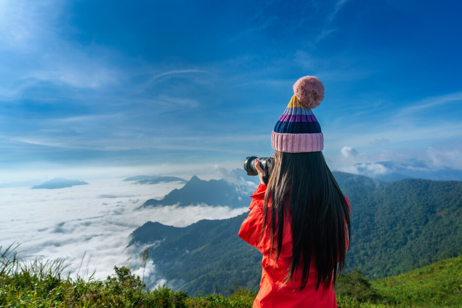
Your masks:
M253 195L250 196L252 198L249 206L250 213L242 222L238 234L240 238L257 248L262 254L266 253L263 247L263 239L260 241L263 228L263 209L266 190L267 186L265 184L260 184Z

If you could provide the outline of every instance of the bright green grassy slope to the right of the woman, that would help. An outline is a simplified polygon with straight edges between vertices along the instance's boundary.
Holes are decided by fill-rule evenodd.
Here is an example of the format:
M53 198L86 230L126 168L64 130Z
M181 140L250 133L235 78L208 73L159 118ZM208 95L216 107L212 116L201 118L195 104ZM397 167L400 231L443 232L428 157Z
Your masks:
M462 256L373 282L354 271L336 294L344 308L462 308Z

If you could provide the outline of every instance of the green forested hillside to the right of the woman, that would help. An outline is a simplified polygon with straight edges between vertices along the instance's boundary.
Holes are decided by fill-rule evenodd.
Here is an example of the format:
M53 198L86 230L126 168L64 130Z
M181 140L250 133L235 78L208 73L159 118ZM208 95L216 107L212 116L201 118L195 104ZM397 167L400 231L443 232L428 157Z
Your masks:
M396 275L462 253L462 182L406 179L352 196L347 268Z

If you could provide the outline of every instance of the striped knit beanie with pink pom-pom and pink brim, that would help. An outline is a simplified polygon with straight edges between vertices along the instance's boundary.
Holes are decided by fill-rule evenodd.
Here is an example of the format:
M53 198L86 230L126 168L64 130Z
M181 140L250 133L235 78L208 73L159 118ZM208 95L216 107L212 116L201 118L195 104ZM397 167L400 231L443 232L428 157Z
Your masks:
M305 76L294 84L294 96L271 135L271 146L280 152L321 151L324 136L312 109L324 98L324 86L315 76Z

